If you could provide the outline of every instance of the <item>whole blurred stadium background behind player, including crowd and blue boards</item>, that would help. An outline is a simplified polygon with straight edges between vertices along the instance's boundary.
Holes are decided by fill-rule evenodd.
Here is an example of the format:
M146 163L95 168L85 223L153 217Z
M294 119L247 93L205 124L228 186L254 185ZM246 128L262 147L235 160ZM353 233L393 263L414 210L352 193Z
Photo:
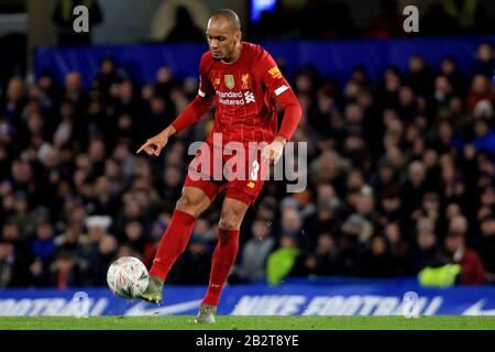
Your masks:
M0 316L72 315L76 292L91 315L196 312L218 205L162 306L113 297L106 273L151 264L212 112L163 157L134 151L196 95L204 28L226 7L297 92L309 184L265 185L219 312L403 315L414 292L422 315L495 315L495 2L2 0Z

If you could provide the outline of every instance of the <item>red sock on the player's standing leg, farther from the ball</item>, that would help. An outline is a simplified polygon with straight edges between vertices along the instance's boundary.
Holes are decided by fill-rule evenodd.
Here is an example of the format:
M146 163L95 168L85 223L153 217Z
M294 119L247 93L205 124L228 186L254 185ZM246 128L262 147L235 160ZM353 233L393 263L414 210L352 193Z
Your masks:
M218 243L211 260L211 274L204 305L217 306L239 249L239 230L218 229Z

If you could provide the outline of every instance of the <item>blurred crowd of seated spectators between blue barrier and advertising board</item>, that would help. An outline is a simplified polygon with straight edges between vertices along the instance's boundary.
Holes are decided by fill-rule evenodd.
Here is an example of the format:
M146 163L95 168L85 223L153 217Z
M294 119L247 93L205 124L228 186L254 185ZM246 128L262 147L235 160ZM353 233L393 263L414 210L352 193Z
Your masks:
M287 276L415 276L457 263L458 282L494 283L495 131L492 45L474 72L453 57L372 81L355 67L340 89L311 67L292 81L308 142L302 193L266 182L241 229L231 283ZM161 157L136 148L196 96L168 67L138 87L112 57L91 87L43 72L11 77L0 96L0 287L101 286L110 263L150 267L180 196L187 148L215 110L175 135ZM221 197L219 197L221 198ZM169 284L208 282L220 204L197 221Z

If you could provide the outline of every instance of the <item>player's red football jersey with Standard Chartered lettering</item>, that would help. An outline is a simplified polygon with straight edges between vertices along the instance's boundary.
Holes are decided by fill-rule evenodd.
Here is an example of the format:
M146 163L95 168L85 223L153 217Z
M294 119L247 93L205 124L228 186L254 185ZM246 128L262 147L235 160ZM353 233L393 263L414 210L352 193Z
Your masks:
M222 143L267 142L277 133L275 98L292 90L273 57L260 45L242 42L242 51L233 63L215 61L211 53L201 56L198 95L213 99L213 133L222 134ZM287 94L287 92L286 92Z

